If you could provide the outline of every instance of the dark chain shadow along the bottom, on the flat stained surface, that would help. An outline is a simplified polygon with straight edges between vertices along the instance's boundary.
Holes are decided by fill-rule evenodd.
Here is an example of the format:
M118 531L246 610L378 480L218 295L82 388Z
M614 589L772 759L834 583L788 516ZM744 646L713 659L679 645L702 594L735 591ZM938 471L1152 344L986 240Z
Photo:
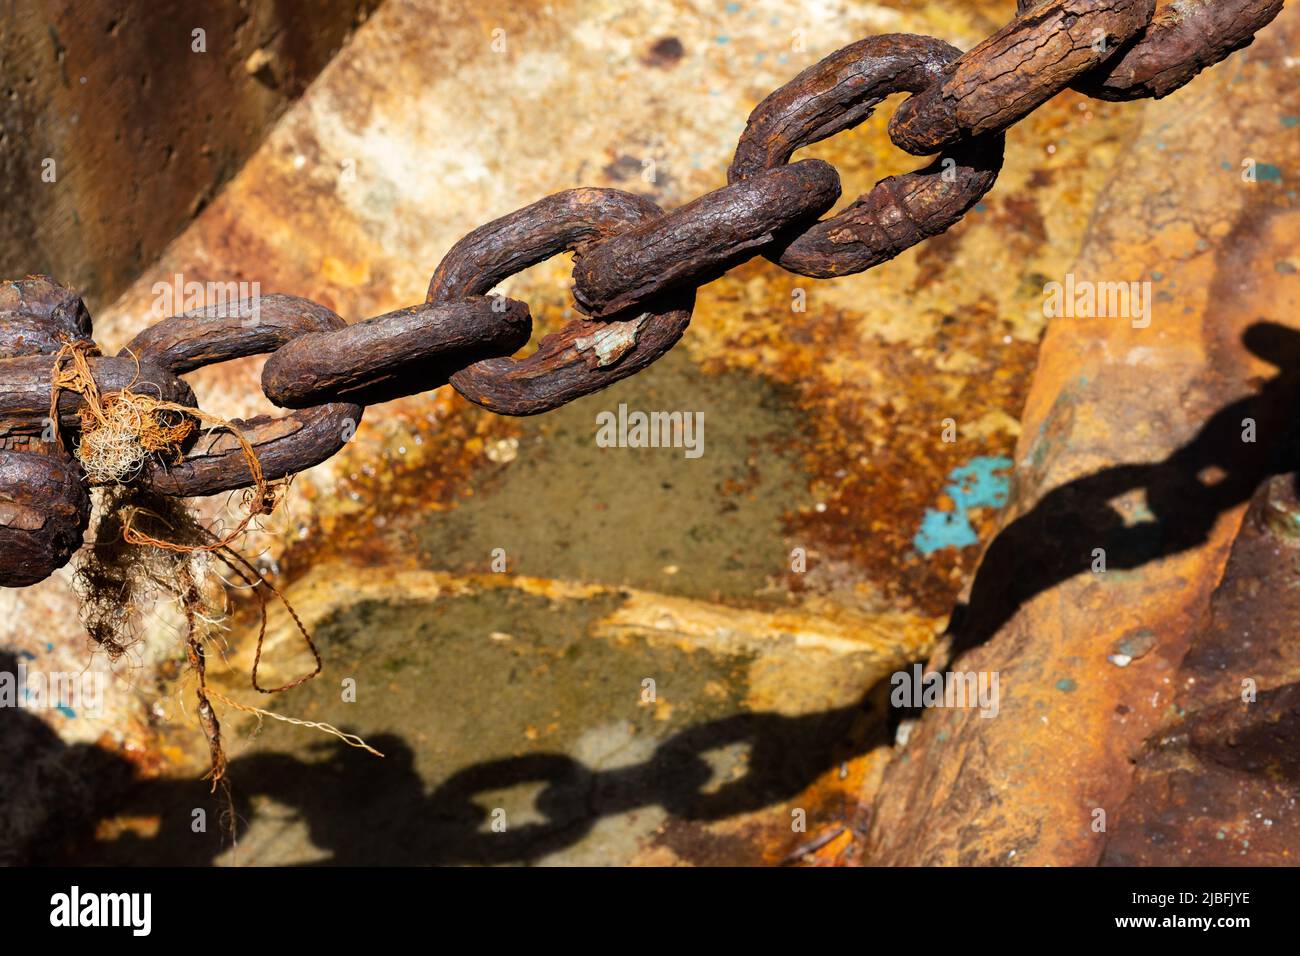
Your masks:
M885 710L859 702L803 717L740 714L689 727L630 766L593 770L567 754L536 753L476 763L432 791L416 753L395 735L370 737L384 760L328 743L315 748L312 760L272 752L237 757L230 779L239 831L264 817L259 856L287 851L309 858L318 852L324 856L316 865L348 866L526 864L577 844L611 814L660 806L679 819L716 821L788 800L828 767L883 743L890 718ZM732 745L748 747L746 773L710 786L715 774L706 754ZM528 821L495 831L490 797L525 784L540 787ZM209 821L203 832L192 827L196 809L205 809ZM198 780L136 782L116 808L98 808L99 816L112 813L156 817L160 823L153 832L127 830L98 842L83 829L81 844L58 862L211 865L230 849L229 835L212 823L221 808ZM268 834L266 821L277 814L303 825L307 843L302 829L296 835L287 826L281 835ZM810 818L810 827L816 822Z

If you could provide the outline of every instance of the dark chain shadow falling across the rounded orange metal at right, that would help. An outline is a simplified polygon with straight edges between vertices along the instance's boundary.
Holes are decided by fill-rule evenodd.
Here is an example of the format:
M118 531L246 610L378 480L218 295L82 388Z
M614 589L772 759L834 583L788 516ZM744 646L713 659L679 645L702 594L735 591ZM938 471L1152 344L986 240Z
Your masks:
M1118 464L1069 481L997 533L968 601L953 611L949 659L988 641L1030 598L1089 571L1095 548L1105 550L1108 571L1134 570L1196 548L1209 540L1219 516L1249 501L1265 479L1296 470L1300 333L1256 323L1242 341L1278 368L1258 392L1222 407L1164 460ZM1243 441L1244 419L1256 421L1258 441ZM1130 523L1112 502L1138 489L1145 490L1149 516Z

